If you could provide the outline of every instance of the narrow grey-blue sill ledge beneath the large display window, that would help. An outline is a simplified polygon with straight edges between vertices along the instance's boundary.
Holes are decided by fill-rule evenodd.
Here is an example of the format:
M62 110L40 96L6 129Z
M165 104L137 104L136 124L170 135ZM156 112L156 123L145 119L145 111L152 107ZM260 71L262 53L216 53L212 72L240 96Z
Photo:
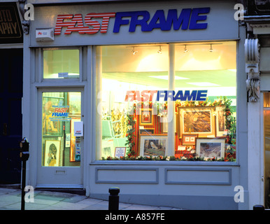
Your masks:
M240 167L237 162L219 162L219 161L140 161L140 160L96 160L90 162L94 165L158 165L158 166L233 166Z

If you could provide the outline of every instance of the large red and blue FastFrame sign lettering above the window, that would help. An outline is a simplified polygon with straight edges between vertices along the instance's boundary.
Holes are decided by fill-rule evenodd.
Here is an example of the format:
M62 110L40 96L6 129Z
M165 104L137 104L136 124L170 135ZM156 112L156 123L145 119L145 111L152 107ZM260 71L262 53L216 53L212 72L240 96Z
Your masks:
M78 32L79 34L104 34L108 30L110 18L115 18L113 33L118 33L120 27L129 26L129 32L136 31L136 27L141 27L141 31L152 31L160 29L162 31L178 29L206 29L207 15L210 8L183 8L178 16L178 10L170 9L167 13L164 10L157 10L154 15L146 10L120 12L120 13L88 13L83 19L81 14L57 15L55 25L55 35L60 35L62 27L67 27L64 34ZM165 15L166 14L166 15ZM98 20L96 20L98 19Z

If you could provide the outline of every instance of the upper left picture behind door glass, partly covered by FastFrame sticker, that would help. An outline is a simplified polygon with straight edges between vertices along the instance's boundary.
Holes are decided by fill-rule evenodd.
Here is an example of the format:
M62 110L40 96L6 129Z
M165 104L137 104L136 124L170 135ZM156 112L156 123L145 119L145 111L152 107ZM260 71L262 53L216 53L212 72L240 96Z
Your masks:
M43 97L43 118L42 129L43 136L59 137L62 136L62 120L52 119L52 113L55 112L53 106L58 106L64 102L63 97Z

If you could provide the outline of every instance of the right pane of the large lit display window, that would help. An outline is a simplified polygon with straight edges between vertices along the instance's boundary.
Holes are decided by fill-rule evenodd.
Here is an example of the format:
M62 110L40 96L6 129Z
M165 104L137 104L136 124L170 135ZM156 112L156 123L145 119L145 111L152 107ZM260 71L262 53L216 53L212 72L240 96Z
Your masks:
M235 160L236 43L176 44L175 87L182 160Z

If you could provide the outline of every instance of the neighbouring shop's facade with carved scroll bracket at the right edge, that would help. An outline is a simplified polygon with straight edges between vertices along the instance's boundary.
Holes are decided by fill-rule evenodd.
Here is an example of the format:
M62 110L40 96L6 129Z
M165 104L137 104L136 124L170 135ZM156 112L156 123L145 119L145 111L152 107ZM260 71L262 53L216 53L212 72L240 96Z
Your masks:
M248 189L250 207L269 209L269 2L246 1L248 99ZM249 85L250 81L254 85Z

